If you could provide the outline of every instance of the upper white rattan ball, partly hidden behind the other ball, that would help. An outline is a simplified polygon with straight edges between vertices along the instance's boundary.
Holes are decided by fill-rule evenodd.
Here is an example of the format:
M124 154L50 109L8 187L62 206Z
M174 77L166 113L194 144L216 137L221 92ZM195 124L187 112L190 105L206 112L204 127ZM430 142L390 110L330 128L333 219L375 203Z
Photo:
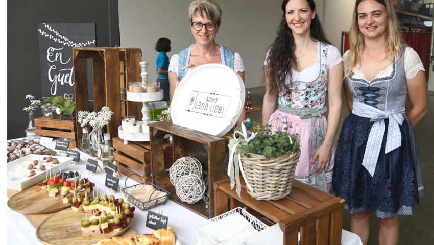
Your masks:
M202 164L192 157L181 157L169 168L171 183L175 186L177 180L184 175L202 176Z

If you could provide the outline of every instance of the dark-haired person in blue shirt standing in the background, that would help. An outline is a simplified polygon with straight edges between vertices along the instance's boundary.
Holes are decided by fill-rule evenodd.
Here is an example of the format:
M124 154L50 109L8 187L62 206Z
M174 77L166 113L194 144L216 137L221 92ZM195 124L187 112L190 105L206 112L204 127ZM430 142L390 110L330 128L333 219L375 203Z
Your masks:
M160 52L158 53L155 63L158 73L157 82L160 82L160 89L164 90L164 98L162 101L169 101L169 57L167 57L167 52L171 51L171 40L165 37L158 39L155 44L155 50Z

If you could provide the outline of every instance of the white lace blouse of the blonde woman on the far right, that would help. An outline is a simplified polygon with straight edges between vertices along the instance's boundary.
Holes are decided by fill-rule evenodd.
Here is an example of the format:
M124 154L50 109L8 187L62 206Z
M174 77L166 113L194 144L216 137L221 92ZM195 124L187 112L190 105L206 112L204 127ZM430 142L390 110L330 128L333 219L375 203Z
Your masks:
M346 60L348 55L349 55L349 50L345 52L342 58ZM354 74L352 75L352 77L356 79L366 80L365 75L363 74L363 72L361 72L358 69L358 67L359 65L357 64L356 67L354 68ZM346 63L344 62L344 70L345 68L346 68ZM392 74L393 71L392 69L393 69L392 63L390 63L388 67L385 70L380 71L377 74L377 76L375 76L374 79L389 77ZM411 47L405 48L404 51L404 70L405 70L405 78L414 78L419 70L425 71L418 53Z

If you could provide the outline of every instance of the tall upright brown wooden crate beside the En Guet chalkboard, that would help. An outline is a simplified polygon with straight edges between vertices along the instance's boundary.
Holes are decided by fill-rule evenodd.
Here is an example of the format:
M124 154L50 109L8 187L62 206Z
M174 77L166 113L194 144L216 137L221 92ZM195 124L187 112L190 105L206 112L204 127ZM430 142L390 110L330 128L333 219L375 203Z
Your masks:
M120 88L127 87L128 82L141 81L139 48L74 47L73 59L76 113L89 110L87 59L92 59L93 110L100 111L103 106L110 107L114 113L108 125L111 137L117 137L117 128L123 116L141 118L141 103L120 104ZM80 127L78 122L76 125L77 128ZM82 131L78 130L77 139L81 140L81 138Z

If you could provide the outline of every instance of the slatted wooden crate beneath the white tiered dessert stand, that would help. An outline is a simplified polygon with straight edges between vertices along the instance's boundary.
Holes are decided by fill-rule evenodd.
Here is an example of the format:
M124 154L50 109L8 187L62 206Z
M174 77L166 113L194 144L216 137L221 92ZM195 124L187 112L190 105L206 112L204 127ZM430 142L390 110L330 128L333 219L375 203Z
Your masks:
M131 175L135 172L134 169L142 177L142 181L151 180L151 145L149 142L134 142L128 141L124 144L124 140L118 137L113 138L113 158L118 162L118 171L123 175ZM168 141L163 142L164 162L170 167L172 160L172 145ZM133 175L131 179L141 183L140 178Z

